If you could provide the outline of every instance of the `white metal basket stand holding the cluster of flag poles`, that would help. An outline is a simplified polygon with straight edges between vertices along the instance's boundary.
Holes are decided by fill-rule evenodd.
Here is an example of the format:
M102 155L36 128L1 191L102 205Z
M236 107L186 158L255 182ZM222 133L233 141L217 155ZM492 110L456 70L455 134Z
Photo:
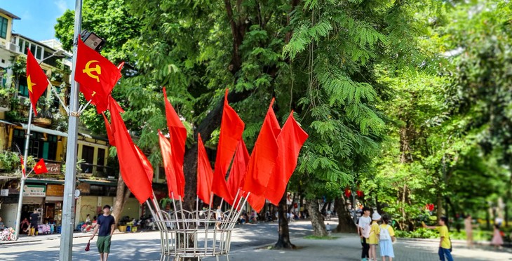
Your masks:
M234 205L230 210L225 211L217 217L217 210L198 210L198 199L196 199L196 210L188 211L182 208L182 201L173 200L175 211L170 213L161 210L155 197L147 201L149 210L154 217L156 226L160 231L161 239L161 260L180 260L184 257L196 257L201 260L203 257L215 257L219 260L225 255L229 260L231 248L231 232L240 217L241 206L247 202L245 197L235 196ZM173 197L173 196L172 196ZM213 195L210 196L212 202ZM221 201L222 206L224 200ZM218 210L220 211L220 210Z

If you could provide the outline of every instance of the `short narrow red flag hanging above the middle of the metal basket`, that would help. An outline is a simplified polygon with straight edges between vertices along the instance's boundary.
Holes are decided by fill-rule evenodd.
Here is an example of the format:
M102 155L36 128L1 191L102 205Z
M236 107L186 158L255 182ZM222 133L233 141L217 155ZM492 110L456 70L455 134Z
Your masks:
M206 149L197 135L197 196L204 203L210 205L210 193L212 192L213 171L206 154Z

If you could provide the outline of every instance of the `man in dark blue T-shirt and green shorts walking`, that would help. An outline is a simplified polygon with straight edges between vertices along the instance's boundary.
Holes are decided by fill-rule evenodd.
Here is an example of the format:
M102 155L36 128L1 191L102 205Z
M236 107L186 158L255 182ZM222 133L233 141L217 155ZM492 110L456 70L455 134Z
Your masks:
M105 205L103 207L103 215L97 217L96 227L94 228L93 236L90 236L90 240L94 239L94 236L97 234L97 250L100 252L100 260L107 261L110 253L110 241L112 239L112 234L114 234L114 230L116 229L116 220L114 217L110 215L110 206Z

